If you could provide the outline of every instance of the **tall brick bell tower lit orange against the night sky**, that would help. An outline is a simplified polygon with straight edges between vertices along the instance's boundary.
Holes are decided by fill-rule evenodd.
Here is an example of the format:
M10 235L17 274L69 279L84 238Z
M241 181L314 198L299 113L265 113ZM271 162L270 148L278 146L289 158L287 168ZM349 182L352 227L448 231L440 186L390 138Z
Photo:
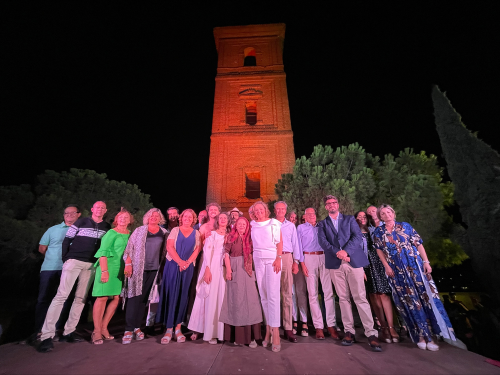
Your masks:
M256 200L276 199L274 184L295 163L284 23L215 27L218 53L206 201L248 217Z

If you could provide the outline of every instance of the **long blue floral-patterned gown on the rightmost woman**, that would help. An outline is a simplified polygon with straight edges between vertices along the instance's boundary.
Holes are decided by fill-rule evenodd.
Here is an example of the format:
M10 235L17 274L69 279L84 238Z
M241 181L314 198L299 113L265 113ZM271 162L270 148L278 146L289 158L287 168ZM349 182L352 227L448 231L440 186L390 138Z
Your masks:
M392 298L409 329L413 342L420 336L432 339L432 334L455 340L455 335L437 287L423 274L423 262L417 246L422 239L407 222L395 222L392 233L385 224L373 232L376 249L382 250L394 278L387 277ZM427 322L428 321L428 322Z

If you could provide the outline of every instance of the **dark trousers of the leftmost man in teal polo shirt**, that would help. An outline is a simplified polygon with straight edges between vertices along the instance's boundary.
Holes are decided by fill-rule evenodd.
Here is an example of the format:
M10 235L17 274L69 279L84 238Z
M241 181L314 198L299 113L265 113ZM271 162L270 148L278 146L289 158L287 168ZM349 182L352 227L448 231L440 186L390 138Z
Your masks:
M45 315L47 314L48 306L57 293L57 288L59 287L59 282L61 278L61 270L55 271L41 271L40 272L40 286L38 288L38 299L36 300L35 307L35 317L34 317L34 331L39 332L45 321ZM64 322L69 315L69 309L71 303L73 302L74 288L69 294L64 306L62 307L62 312L57 321L56 329L61 329L64 327Z

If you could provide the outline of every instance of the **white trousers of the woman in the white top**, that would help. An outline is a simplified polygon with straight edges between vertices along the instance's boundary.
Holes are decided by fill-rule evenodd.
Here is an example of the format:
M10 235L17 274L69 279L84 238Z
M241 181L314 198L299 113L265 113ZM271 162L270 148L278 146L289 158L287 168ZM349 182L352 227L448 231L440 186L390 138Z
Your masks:
M265 322L271 327L279 327L281 272L274 272L272 267L273 262L274 259L253 258L255 277L257 279L258 293L260 294L260 303L264 311Z

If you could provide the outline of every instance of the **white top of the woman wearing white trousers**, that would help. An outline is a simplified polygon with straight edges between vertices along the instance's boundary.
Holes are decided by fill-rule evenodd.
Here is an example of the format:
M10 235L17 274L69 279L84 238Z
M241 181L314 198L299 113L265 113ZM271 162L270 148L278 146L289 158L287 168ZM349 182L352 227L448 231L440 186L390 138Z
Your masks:
M280 240L281 223L276 219L257 222L250 221L251 240L253 242L253 257L274 259L276 257L276 244Z

